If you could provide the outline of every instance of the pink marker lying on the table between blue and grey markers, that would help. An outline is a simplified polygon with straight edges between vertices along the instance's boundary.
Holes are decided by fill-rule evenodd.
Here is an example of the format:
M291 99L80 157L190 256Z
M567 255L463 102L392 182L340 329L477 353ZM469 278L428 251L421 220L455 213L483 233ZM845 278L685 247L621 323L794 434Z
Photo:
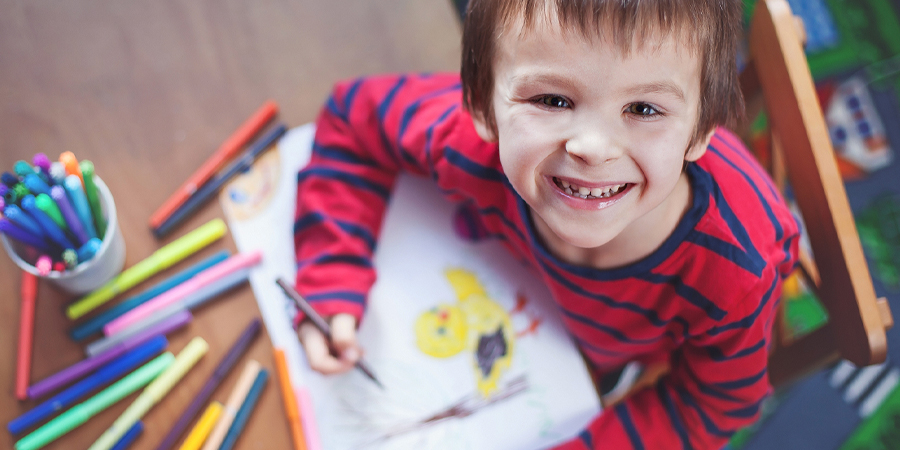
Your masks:
M196 292L198 289L202 289L203 287L214 283L216 280L226 277L238 270L255 266L259 264L260 261L262 261L262 252L259 250L234 255L225 261L194 275L191 279L169 289L131 311L122 314L103 327L103 334L112 336L113 334L140 322L156 311L177 302L181 302L181 300Z

